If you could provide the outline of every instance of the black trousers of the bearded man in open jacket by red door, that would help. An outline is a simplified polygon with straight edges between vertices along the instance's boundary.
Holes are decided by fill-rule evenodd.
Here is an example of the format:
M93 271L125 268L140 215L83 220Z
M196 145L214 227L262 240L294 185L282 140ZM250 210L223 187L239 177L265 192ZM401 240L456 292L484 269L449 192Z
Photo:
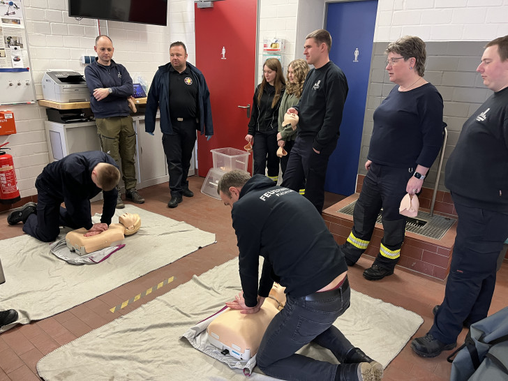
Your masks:
M181 197L188 188L188 169L191 167L194 144L196 142L197 121L184 119L172 120L172 134L163 134L163 147L167 160L167 172L170 174L171 197Z

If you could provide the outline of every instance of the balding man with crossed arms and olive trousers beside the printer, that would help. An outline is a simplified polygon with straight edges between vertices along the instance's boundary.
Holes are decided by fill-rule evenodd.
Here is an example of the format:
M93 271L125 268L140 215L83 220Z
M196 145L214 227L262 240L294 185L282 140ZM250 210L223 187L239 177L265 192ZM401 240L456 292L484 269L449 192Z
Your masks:
M90 89L90 107L94 112L100 145L120 166L126 199L142 204L144 198L136 191L136 133L127 99L133 95L133 80L126 68L113 61L114 47L108 36L96 38L94 50L98 58L84 68ZM117 208L125 207L118 193Z

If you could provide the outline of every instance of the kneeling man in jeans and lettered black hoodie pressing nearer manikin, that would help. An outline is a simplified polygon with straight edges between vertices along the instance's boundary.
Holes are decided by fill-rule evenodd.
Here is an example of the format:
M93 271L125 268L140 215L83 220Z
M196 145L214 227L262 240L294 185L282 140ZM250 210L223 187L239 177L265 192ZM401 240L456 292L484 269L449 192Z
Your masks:
M256 354L261 370L284 380L380 380L381 364L332 325L350 306L348 266L313 204L267 177L239 170L224 174L218 194L232 209L243 290L227 306L257 313L274 281L286 287L285 307ZM295 354L311 341L331 350L341 364Z

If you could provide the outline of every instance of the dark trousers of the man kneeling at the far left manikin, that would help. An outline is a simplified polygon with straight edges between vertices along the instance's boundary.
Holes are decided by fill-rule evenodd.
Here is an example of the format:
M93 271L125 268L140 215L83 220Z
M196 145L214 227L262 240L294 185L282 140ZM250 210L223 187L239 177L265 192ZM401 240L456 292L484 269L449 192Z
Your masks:
M52 242L60 234L60 226L79 229L67 209L61 207L63 200L38 190L37 214L31 214L23 225L23 231L43 242Z

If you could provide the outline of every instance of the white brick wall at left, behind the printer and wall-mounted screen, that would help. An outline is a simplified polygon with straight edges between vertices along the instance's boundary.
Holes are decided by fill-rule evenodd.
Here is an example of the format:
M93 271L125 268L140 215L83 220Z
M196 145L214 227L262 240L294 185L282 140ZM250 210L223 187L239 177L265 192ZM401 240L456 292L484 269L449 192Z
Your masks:
M40 99L43 98L41 81L48 68L84 73L80 57L95 55L97 22L68 17L67 0L25 0L23 3L33 82ZM100 22L100 32L109 34L113 40L114 60L126 66L131 76L141 75L149 83L158 66L169 61L169 45L174 40L186 43L188 61L195 62L194 3L192 0L169 0L168 3L168 27ZM0 136L0 144L10 142L22 197L35 195L35 179L49 163L45 108L38 105L1 108L14 112L17 133Z

